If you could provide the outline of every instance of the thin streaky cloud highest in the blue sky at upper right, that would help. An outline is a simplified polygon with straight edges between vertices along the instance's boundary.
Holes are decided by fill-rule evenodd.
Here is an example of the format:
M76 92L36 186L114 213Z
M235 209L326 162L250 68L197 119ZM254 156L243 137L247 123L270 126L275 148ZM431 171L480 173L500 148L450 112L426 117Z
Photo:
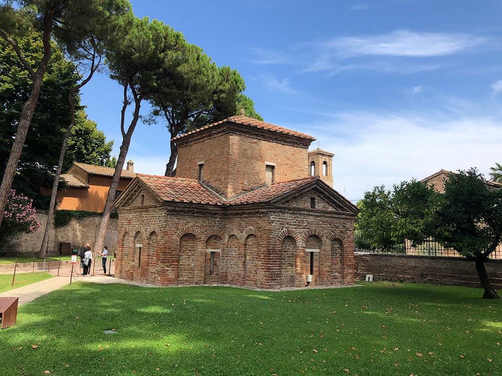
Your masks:
M452 55L486 43L484 37L469 34L415 33L396 30L388 34L339 37L320 47L340 59L354 56L433 57Z

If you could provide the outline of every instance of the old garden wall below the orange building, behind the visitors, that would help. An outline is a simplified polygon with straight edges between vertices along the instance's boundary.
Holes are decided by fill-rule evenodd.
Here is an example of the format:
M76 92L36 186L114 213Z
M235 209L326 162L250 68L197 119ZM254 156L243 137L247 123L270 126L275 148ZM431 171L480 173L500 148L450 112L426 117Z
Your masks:
M47 211L37 211L35 215L37 221L42 226L37 232L31 234L22 234L3 250L11 254L33 254L40 252L40 245L44 237L45 226L47 223ZM81 248L85 243L92 246L96 240L96 234L99 227L101 216L91 216L82 219L71 219L66 226L54 229L52 227L49 237L49 254L59 254L60 243L70 243L71 248ZM110 218L105 236L105 245L108 251L114 252L117 244L117 219Z

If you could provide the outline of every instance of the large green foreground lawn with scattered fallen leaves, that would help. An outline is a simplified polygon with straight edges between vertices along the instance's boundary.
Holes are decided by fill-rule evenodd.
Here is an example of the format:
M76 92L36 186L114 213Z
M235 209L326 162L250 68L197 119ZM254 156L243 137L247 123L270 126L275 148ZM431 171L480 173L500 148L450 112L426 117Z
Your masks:
M0 332L2 374L501 374L502 302L481 295L78 282L23 305L18 325Z

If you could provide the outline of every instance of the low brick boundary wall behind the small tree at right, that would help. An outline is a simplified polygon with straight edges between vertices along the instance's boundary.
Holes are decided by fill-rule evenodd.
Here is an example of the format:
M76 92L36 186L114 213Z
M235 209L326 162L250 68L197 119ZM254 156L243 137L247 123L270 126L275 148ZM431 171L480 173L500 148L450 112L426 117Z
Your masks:
M373 274L374 281L481 288L474 262L460 257L354 253L354 259L354 279L360 281L366 274ZM493 287L502 289L502 260L490 260L484 265Z

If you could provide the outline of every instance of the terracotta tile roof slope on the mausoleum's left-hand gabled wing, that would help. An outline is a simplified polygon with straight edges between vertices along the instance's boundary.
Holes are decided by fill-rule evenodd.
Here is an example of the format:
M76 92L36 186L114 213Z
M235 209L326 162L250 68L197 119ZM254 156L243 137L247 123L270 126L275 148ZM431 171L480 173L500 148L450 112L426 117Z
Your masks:
M137 177L162 200L179 203L222 205L223 202L197 180L181 177L146 175Z

